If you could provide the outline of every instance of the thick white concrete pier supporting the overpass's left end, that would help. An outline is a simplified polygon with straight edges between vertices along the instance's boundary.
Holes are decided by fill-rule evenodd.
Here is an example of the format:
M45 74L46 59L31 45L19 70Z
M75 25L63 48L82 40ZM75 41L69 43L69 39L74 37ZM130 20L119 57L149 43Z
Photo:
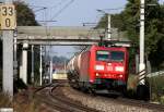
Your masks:
M27 84L27 48L28 43L23 42L22 63L20 65L20 78Z

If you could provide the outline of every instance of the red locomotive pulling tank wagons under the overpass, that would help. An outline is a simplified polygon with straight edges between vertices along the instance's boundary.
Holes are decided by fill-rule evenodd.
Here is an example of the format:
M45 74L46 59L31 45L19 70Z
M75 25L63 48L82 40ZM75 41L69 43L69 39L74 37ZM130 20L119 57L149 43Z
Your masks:
M126 47L93 45L68 62L68 80L73 88L92 92L99 89L125 92L128 80L128 57Z

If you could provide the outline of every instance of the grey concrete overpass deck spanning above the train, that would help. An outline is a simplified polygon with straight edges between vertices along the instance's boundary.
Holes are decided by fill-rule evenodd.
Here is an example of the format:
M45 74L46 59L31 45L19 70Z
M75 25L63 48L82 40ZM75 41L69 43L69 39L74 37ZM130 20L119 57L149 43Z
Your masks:
M17 43L30 45L93 45L105 36L105 29L84 26L17 26ZM119 37L119 38L118 38ZM112 29L112 38L128 41L119 35L117 28Z

